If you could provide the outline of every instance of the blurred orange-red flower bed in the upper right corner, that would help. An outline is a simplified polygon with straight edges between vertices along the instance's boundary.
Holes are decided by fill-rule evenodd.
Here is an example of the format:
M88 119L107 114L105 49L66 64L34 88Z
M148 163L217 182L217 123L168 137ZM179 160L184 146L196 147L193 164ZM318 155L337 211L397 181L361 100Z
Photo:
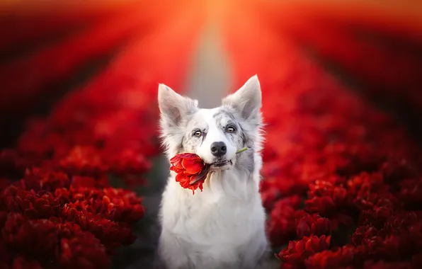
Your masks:
M365 96L397 106L406 102L408 110L421 113L420 3L251 2L266 27L306 44L323 63L363 82Z

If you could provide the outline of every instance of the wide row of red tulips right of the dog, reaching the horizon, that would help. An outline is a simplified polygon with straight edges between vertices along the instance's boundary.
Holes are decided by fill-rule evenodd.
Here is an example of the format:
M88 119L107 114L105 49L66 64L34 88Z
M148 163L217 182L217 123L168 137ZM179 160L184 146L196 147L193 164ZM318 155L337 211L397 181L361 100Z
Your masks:
M281 268L419 268L421 147L263 27L256 6L239 13L248 23L230 13L224 37L239 85L255 73L261 81L261 193Z

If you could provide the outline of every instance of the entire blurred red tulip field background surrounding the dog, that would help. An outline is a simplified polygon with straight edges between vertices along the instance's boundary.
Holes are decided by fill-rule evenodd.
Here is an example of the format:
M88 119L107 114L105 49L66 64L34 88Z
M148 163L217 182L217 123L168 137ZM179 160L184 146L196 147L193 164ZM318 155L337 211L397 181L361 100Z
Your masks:
M158 84L211 108L254 74L273 267L421 265L422 5L392 0L1 1L0 265L153 268Z

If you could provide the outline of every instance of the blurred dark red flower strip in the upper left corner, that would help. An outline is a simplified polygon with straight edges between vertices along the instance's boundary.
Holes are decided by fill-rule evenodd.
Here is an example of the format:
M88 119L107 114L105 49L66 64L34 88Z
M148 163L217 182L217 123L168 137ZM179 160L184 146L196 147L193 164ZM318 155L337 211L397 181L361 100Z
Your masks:
M113 16L116 13L127 13L138 4L122 3L111 0L105 3L70 4L54 0L42 3L2 2L1 11L13 13L0 21L1 50L13 50L23 44L33 45L43 38L74 30L76 27ZM139 6L138 6L139 7Z

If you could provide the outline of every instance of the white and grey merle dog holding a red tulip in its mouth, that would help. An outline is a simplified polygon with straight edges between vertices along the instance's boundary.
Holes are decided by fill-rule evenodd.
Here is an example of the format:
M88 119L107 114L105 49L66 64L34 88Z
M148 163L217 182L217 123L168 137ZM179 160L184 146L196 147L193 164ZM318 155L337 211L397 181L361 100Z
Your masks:
M159 84L161 138L169 159L195 153L211 164L203 191L184 189L171 171L161 198L159 257L167 269L254 269L268 254L259 193L261 86L252 76L218 108ZM246 151L236 154L238 149Z

